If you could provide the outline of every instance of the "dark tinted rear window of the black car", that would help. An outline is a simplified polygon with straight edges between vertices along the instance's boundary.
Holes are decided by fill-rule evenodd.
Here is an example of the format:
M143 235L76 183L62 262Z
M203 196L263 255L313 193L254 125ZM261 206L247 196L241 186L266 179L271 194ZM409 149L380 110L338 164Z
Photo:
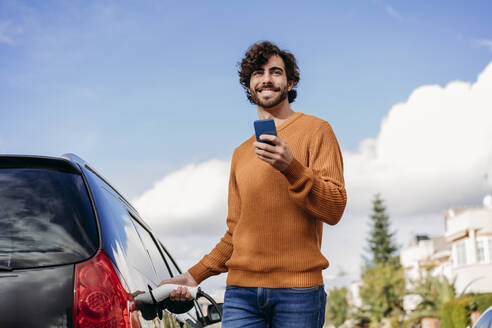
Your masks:
M0 168L0 270L74 263L89 258L97 247L82 176Z

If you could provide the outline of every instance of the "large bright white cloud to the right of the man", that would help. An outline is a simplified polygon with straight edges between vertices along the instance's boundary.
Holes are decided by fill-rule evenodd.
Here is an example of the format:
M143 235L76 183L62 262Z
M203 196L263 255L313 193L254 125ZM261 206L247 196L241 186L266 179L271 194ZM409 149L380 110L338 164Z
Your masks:
M381 192L391 213L479 204L492 188L492 63L475 83L422 86L394 105L375 139L344 154L349 209Z

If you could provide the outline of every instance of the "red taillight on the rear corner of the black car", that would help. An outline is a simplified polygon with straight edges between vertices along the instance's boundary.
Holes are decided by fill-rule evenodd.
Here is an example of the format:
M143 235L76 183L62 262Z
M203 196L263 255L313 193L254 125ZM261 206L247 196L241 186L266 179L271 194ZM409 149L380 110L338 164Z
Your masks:
M75 265L74 326L76 328L127 328L130 302L104 252Z

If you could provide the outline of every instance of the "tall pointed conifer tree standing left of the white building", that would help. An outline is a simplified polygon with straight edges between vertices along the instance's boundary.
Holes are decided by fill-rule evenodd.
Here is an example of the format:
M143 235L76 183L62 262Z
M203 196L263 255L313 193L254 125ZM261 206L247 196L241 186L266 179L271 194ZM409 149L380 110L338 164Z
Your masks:
M394 233L389 231L389 216L386 214L386 207L380 194L375 195L372 210L372 227L367 240L372 257L371 264L387 263L394 258L397 247L392 240Z

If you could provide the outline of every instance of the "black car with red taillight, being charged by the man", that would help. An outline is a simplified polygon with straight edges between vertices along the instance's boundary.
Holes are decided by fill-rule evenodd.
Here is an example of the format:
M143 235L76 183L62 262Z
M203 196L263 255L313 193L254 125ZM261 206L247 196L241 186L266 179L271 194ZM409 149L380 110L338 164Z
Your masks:
M137 294L179 273L133 206L76 155L0 156L0 327L220 321L194 301L135 306Z

